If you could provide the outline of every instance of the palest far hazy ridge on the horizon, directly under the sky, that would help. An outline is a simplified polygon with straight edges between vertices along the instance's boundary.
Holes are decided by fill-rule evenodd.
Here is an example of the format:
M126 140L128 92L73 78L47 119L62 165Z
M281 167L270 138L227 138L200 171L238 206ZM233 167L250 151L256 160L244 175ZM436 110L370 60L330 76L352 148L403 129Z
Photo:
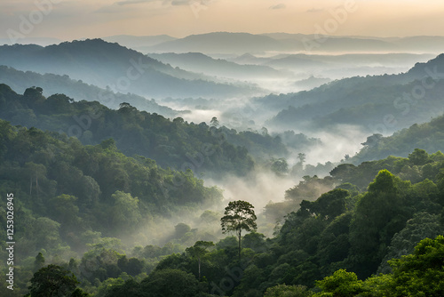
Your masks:
M431 52L444 46L443 36L371 37L320 36L272 33L214 32L178 38L147 47L147 52L202 52L237 54L246 52ZM147 53L146 52L146 53Z

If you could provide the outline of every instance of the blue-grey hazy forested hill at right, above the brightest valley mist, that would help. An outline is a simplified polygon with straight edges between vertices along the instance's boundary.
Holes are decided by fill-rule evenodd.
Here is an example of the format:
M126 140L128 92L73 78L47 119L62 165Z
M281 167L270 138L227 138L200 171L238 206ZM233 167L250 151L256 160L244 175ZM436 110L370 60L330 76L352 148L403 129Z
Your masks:
M278 112L268 122L272 127L304 124L325 130L353 124L369 133L387 133L440 116L443 95L444 55L440 55L404 74L345 78L311 91L255 101Z

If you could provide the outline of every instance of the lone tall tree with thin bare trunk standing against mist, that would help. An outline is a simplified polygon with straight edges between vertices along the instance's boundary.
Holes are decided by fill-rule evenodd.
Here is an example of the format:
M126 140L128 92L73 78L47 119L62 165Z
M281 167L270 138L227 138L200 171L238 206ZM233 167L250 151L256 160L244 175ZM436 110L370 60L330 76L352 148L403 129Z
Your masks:
M225 208L225 215L220 219L222 232L235 231L239 240L239 261L241 261L242 229L256 231L256 214L254 206L247 201L232 201Z

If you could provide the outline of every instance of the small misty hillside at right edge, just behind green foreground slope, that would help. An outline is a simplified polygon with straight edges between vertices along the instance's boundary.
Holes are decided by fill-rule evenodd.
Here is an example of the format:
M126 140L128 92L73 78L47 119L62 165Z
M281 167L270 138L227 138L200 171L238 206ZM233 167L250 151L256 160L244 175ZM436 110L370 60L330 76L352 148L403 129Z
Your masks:
M444 108L440 109L441 112ZM388 156L407 157L415 148L424 148L430 152L444 149L444 115L424 124L413 124L407 129L383 137L373 134L362 143L361 151L347 162L360 164L364 161L377 160Z

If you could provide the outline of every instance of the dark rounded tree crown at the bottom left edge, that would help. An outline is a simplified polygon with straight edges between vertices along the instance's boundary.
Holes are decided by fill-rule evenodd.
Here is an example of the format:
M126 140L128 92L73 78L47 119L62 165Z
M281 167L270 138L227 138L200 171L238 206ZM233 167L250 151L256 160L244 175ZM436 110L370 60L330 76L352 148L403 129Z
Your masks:
M75 275L57 265L39 269L30 280L28 287L31 297L68 296L75 292L79 284Z

